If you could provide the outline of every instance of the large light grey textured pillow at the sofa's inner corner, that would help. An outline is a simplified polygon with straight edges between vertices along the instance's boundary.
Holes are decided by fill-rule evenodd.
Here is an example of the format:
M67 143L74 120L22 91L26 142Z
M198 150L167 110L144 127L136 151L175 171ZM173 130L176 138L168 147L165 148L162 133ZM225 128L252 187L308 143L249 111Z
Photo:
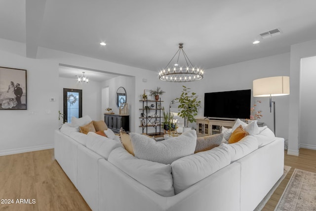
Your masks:
M146 135L130 133L135 157L162 164L194 153L197 144L196 130L189 130L179 136L155 141Z

